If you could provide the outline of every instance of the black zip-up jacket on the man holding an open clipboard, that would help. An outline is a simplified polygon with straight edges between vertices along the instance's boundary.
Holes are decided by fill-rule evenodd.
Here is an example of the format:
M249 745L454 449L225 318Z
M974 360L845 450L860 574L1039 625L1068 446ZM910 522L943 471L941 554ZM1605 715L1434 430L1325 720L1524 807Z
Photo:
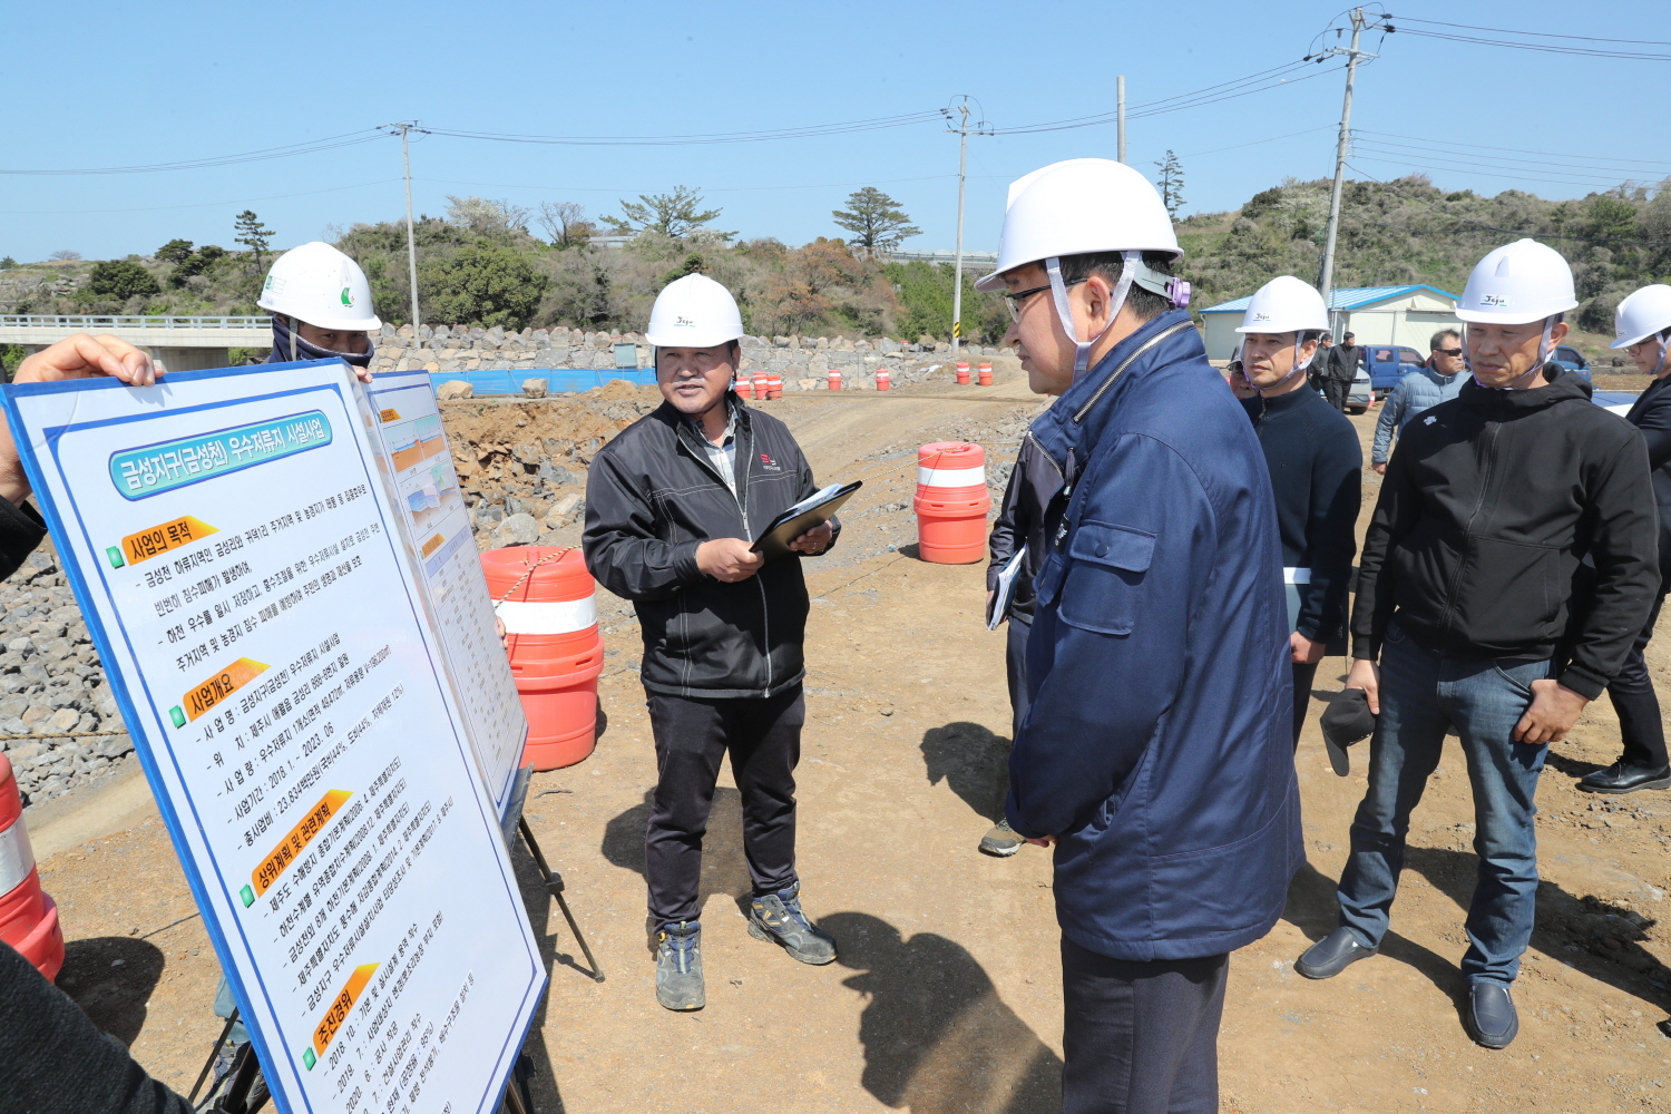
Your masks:
M805 675L809 605L799 554L769 560L735 585L697 570L703 541L752 541L817 491L789 428L730 403L735 496L709 463L702 434L670 403L598 449L587 478L587 568L633 601L643 630L640 675L655 693L774 696ZM832 524L839 534L841 523Z

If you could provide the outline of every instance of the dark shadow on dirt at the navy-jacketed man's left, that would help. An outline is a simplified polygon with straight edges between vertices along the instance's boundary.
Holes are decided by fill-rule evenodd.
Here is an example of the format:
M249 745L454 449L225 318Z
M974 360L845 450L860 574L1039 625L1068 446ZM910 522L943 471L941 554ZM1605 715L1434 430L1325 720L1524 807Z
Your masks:
M819 924L841 942L837 962L861 972L842 985L869 999L859 1017L866 1091L911 1114L1061 1109L1061 1059L961 945L932 932L906 940L871 914Z

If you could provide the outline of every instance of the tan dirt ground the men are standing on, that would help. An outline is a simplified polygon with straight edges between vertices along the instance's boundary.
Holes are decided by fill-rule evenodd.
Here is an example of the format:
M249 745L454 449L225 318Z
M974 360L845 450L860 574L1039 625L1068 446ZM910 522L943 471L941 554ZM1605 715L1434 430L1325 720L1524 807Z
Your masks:
M1056 1111L1061 997L1048 853L996 860L974 850L999 805L1009 743L1003 635L979 621L981 566L924 565L907 549L916 446L971 438L1003 459L1036 399L1011 366L989 389L769 406L794 426L820 478L866 479L841 548L807 565L800 872L805 905L841 940L841 960L804 967L747 935L749 875L725 773L703 867L709 1007L668 1014L655 1004L642 877L655 763L637 626L630 608L600 600L608 727L592 758L535 778L528 817L608 980L571 969L578 949L521 855L553 960L530 1042L538 1109ZM1354 423L1367 444L1374 413ZM1375 476L1365 481L1367 518ZM1664 678L1664 650L1651 656ZM1340 661L1327 665L1320 691L1338 688ZM1656 927L1671 889L1671 795L1594 800L1572 790L1576 775L1616 755L1606 701L1556 748L1542 780L1539 929L1516 987L1521 1037L1502 1052L1470 1044L1457 1014L1475 860L1454 740L1412 823L1384 955L1330 982L1293 974L1293 959L1335 924L1333 884L1364 792L1360 772L1328 770L1320 706L1298 752L1310 865L1283 920L1233 959L1223 1109L1671 1109L1671 1042L1654 1030L1671 1005L1671 950ZM43 822L43 835L70 822ZM216 965L160 822L79 842L47 858L42 877L74 937L65 990L150 1071L187 1087L219 1030L209 1014Z

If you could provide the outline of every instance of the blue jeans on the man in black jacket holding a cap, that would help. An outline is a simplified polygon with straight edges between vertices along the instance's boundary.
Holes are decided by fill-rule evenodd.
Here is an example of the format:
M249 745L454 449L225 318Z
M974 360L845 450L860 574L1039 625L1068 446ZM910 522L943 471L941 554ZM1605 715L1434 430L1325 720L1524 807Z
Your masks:
M1439 765L1445 730L1462 737L1474 787L1479 882L1467 912L1469 982L1514 982L1532 939L1537 902L1537 775L1547 747L1512 738L1549 661L1445 658L1387 631L1380 655L1380 718L1369 752L1369 793L1352 820L1352 857L1340 875L1340 924L1379 947L1404 868L1410 812Z

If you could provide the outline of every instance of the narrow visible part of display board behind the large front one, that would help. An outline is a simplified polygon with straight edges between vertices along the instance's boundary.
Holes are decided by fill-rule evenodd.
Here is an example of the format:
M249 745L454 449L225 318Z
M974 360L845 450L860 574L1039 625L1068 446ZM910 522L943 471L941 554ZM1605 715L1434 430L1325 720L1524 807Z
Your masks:
M381 374L364 389L366 419L378 431L408 551L418 558L431 620L446 655L465 730L505 820L528 738L511 666L500 653L488 578L476 558L470 508L458 486L429 372Z

